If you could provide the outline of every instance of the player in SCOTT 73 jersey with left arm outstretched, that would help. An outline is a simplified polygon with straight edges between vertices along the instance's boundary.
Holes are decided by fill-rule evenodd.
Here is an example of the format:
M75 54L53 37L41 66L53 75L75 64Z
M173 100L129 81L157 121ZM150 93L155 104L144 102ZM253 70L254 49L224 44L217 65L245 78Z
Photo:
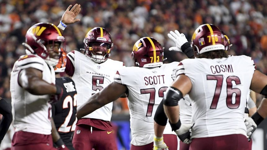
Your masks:
M135 67L118 69L115 81L80 106L77 117L92 113L126 92L133 136L131 149L152 149L153 118L166 87L173 82L171 72L178 62L163 64L163 47L150 37L141 38L135 43L132 56ZM177 136L171 131L170 125L166 128L164 132L166 144L169 149L177 150Z

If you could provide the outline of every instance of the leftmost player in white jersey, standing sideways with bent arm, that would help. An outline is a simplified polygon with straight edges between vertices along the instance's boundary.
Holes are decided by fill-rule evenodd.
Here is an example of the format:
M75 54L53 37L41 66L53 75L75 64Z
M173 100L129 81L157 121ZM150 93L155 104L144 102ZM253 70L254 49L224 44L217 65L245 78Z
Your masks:
M15 62L10 80L15 127L11 149L53 149L49 101L63 93L55 85L53 67L62 62L65 38L54 24L38 23L29 28L23 45L26 55Z

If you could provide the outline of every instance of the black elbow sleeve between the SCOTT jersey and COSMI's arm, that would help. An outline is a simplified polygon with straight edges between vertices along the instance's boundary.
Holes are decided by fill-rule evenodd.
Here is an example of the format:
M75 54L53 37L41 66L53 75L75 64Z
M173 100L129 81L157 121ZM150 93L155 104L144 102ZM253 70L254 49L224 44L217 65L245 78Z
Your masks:
M161 125L161 126L166 126L168 118L164 112L164 108L163 108L163 100L161 101L161 103L159 104L155 116L154 116L154 121Z

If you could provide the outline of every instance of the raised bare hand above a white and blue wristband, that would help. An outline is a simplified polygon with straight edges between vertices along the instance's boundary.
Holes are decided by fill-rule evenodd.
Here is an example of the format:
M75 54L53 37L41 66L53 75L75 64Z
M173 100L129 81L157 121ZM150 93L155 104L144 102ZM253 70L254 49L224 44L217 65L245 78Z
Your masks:
M72 5L70 5L66 11L64 12L64 14L61 17L61 22L64 24L73 24L77 21L80 21L80 19L75 19L76 16L79 14L79 12L81 11L81 5L75 4L71 10L70 7Z

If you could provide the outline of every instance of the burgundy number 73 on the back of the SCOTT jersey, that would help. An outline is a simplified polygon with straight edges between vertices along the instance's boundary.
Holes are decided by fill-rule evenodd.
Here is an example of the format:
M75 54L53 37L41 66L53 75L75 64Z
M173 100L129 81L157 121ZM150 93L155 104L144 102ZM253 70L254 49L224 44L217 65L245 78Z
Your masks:
M159 97L163 97L165 92L168 87L164 86L159 89ZM150 94L149 96L149 103L147 105L147 117L152 116L152 111L153 111L153 106L155 104L155 96L156 96L156 90L155 88L149 88L149 89L141 89L141 94Z

